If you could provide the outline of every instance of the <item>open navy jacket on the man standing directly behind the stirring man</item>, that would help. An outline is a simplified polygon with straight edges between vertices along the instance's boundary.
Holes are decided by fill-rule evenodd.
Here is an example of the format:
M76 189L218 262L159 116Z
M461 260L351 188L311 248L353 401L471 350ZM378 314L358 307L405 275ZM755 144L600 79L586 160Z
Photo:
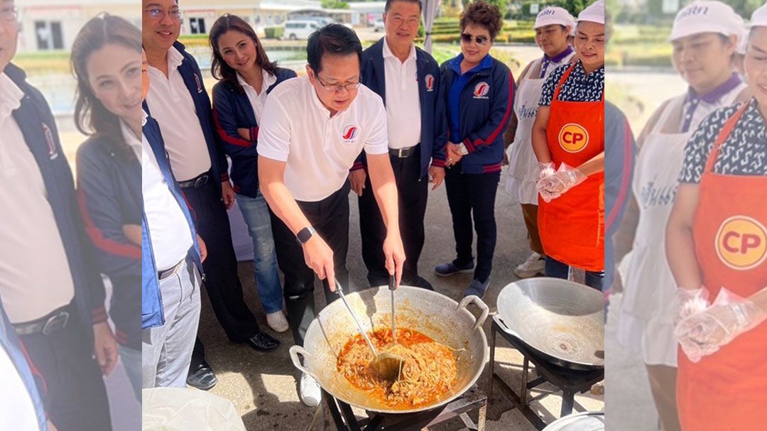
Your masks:
M370 88L386 105L386 77L384 74L384 43L381 38L362 51L362 84ZM418 70L418 98L421 103L421 178L433 166L445 166L445 101L439 90L439 66L426 51L416 47L416 68ZM367 164L365 152L360 153L351 170L362 169Z

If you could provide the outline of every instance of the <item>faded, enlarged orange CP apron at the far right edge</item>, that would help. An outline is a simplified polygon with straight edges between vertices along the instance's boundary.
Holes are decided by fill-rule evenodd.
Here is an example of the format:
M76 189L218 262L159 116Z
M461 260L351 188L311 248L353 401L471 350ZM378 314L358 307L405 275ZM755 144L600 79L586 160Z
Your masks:
M700 179L693 241L709 298L722 286L748 298L767 285L767 177L713 173L719 148L746 107L725 123ZM680 350L676 400L684 431L765 429L767 323L697 364Z

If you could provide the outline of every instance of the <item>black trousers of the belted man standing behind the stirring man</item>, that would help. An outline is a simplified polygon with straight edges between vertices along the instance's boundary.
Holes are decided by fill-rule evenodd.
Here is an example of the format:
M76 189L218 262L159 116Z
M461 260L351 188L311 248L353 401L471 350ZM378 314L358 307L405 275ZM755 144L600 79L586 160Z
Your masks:
M400 235L405 248L402 284L431 288L418 275L418 259L423 250L423 218L426 216L426 199L429 197L429 181L421 178L420 145L410 157L400 159L390 156L400 209ZM357 199L360 207L360 234L362 237L362 259L367 267L367 281L371 286L389 284L386 269L384 239L386 226L381 217L378 202L373 193L370 176L365 179L362 196Z

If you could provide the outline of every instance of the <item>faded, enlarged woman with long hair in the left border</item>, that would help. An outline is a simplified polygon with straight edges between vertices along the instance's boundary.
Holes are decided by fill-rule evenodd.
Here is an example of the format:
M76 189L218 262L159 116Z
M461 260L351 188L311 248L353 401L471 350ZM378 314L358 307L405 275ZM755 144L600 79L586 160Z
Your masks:
M109 14L72 44L74 120L89 138L77 149L77 191L99 271L112 285L109 315L123 367L141 400L141 31ZM106 314L103 316L106 319ZM109 373L117 360L104 363Z

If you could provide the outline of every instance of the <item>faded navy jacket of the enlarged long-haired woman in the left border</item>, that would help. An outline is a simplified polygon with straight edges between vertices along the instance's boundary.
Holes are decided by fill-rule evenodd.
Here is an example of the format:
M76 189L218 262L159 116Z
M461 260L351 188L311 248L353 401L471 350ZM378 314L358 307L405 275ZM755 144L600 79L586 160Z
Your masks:
M77 197L100 272L112 283L117 341L140 350L141 248L128 241L123 225L141 224L141 163L127 144L118 145L94 136L77 149Z

